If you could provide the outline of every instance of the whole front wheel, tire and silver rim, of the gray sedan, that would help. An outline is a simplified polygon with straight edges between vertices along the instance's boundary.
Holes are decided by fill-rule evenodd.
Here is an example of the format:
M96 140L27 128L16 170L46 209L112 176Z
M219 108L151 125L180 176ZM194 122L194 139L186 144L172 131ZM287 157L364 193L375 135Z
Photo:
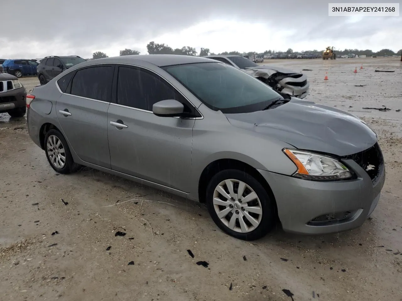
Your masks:
M207 206L215 224L242 240L265 236L276 223L276 206L252 175L237 169L220 171L209 181Z

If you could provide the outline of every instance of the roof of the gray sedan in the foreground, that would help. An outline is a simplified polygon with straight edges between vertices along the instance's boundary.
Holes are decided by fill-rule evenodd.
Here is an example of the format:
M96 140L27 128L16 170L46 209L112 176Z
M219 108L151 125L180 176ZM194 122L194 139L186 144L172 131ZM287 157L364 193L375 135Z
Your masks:
M150 54L150 55L122 55L119 57L107 57L103 59L94 59L91 62L93 64L98 63L100 60L113 61L113 63L119 63L127 61L127 59L132 59L136 61L144 61L151 63L158 67L170 66L170 65L181 65L181 64L191 64L191 63L208 63L210 60L204 57L195 57L191 55L171 55L171 54Z

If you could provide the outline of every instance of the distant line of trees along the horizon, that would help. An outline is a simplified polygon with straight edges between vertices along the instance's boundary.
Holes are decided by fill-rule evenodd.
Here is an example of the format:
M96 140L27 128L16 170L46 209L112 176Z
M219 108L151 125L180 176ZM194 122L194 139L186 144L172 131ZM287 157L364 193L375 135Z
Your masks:
M194 47L190 46L183 46L181 48L175 48L173 49L169 45L166 45L164 43L159 44L155 43L154 41L148 43L147 45L147 51L149 54L176 54L176 55L193 55L193 56L205 56L205 55L216 55L216 53L211 53L209 51L209 48L201 48L200 53L198 53ZM218 55L271 55L275 53L286 53L286 54L291 54L291 53L322 53L324 50L304 50L304 51L299 51L299 52L294 52L293 49L288 48L287 51L276 51L276 50L266 50L264 52L256 52L256 51L249 51L249 52L239 52L239 51L224 51L222 53L217 53ZM347 55L349 53L354 53L355 55L367 55L367 56L372 56L372 55L378 55L378 56L383 56L383 55L402 55L402 49L400 49L397 52L392 51L391 49L381 49L380 51L374 52L371 51L370 49L366 50L359 50L359 49L345 49L345 50L334 50L334 52L337 55ZM140 52L137 50L131 50L131 49L124 49L120 50L120 56L123 55L139 55ZM96 51L93 53L92 58L93 59L101 59L103 57L108 57L106 53L103 53L101 51Z

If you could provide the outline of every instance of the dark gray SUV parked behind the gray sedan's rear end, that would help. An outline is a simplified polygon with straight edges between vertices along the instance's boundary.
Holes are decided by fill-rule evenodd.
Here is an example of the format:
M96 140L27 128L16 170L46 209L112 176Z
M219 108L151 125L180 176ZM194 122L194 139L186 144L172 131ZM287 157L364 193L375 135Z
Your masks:
M37 67L39 82L44 85L64 70L83 62L86 60L78 55L44 57Z

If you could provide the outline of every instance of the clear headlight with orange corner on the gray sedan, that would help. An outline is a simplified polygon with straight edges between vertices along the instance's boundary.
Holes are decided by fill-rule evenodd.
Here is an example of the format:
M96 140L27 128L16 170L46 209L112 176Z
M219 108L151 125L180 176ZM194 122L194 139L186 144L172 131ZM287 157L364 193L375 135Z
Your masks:
M288 148L283 152L297 167L294 177L314 181L335 181L353 176L345 165L334 158Z

